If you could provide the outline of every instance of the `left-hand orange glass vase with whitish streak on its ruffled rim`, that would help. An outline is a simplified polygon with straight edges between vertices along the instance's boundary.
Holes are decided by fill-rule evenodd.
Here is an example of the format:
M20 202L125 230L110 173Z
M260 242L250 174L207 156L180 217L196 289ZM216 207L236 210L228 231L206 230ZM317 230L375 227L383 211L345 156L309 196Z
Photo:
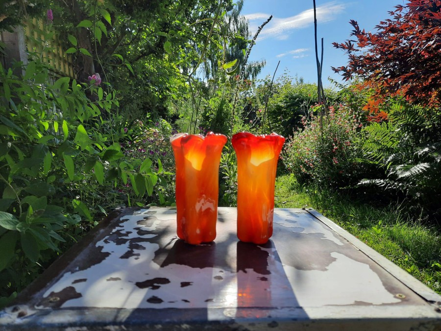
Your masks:
M178 133L170 138L176 163L177 235L198 245L216 238L223 134Z

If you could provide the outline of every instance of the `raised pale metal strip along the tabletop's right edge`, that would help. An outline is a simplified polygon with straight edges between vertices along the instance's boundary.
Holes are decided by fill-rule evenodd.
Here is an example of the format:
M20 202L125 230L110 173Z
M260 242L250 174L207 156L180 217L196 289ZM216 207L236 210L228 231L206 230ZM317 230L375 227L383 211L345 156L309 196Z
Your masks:
M275 208L278 209L278 208ZM352 246L354 246L357 250L361 251L365 255L367 255L370 259L375 261L379 266L385 269L389 274L391 274L396 280L403 283L405 286L414 291L417 295L419 295L424 300L431 303L438 303L438 306L441 305L441 296L433 291L431 288L423 284L421 281L417 280L414 276L409 274L407 271L401 269L391 260L381 255L360 239L350 234L345 229L341 228L333 221L328 219L327 217L320 214L315 209L305 209L308 213L317 218L324 225L332 229L334 232L338 233L344 239L346 239Z

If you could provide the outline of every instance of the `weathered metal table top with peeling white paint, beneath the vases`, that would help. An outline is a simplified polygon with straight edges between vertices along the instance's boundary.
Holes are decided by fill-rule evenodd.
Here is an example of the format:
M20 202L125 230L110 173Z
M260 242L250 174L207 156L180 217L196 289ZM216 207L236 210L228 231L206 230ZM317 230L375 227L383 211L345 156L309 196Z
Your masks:
M173 208L114 213L0 312L0 330L441 328L439 295L318 212L276 208L265 245L238 241L236 208L218 214L215 242L192 246Z

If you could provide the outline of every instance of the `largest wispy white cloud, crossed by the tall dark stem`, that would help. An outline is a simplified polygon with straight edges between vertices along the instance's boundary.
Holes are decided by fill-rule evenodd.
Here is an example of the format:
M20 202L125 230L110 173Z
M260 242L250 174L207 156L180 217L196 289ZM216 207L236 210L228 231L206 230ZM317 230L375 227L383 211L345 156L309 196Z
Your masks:
M319 7L317 7L317 22L319 24L333 21L337 16L343 12L345 5L338 1L327 2ZM257 25L255 25L256 20L268 19L269 14L265 13L255 13L245 15L250 21L250 29L252 34L257 30ZM263 22L262 22L263 23ZM299 29L311 25L314 23L314 9L308 9L302 11L301 13L287 17L287 18L276 18L273 17L270 23L263 28L259 34L260 40L275 37L277 39L286 39L287 35L291 33L294 29Z

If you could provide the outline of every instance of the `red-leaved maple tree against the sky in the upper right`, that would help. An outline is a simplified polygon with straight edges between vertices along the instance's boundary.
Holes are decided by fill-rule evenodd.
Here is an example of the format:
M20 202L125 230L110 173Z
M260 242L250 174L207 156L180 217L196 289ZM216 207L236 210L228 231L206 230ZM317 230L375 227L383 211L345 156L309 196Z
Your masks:
M347 51L347 66L332 68L349 80L364 78L378 99L401 95L411 103L441 105L441 0L408 0L395 6L387 19L375 26L377 33L361 30L356 40L333 43Z

